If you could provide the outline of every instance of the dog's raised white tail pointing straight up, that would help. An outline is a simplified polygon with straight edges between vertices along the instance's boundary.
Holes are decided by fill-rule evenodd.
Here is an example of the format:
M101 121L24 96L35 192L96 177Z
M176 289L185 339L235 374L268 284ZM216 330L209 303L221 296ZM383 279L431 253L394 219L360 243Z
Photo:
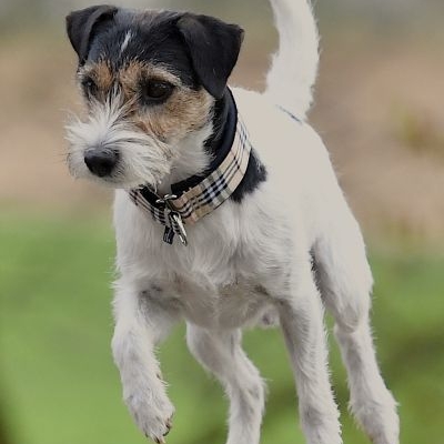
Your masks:
M312 104L319 63L319 36L310 0L270 0L279 49L266 77L265 94L304 120Z

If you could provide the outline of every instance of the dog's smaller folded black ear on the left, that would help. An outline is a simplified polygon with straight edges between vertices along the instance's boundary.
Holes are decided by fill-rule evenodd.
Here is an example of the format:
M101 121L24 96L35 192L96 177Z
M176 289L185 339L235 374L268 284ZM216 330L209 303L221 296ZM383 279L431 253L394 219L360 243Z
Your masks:
M112 21L118 9L108 4L73 11L67 17L67 32L72 48L83 64L88 58L92 39L107 22Z

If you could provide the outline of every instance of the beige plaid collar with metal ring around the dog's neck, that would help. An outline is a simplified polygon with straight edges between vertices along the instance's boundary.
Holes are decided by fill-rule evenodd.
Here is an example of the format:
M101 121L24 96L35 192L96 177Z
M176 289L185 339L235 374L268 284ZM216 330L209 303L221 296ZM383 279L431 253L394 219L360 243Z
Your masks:
M234 102L233 102L234 104ZM154 221L164 225L163 241L172 244L174 235L186 245L185 224L191 225L211 213L234 192L241 183L250 159L251 144L238 110L234 105L235 122L233 142L224 159L213 165L205 176L193 176L171 185L172 193L158 195L151 188L131 190L132 202ZM230 134L229 134L230 137ZM225 141L226 142L226 141ZM193 183L196 182L196 183Z

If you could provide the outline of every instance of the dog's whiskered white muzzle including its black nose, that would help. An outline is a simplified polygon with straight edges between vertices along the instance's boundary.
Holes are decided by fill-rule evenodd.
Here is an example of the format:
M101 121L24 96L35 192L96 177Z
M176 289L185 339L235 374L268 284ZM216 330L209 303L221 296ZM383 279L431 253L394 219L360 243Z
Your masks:
M108 119L105 119L108 118ZM158 186L170 172L172 148L127 120L90 114L67 125L72 176L114 189Z

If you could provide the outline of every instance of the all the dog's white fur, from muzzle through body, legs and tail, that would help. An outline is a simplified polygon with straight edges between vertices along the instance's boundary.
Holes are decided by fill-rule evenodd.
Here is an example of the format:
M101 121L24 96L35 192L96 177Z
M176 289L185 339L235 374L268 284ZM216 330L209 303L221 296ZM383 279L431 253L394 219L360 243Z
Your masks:
M216 375L230 397L228 444L259 444L264 390L258 370L241 349L241 329L279 316L306 442L341 444L329 381L325 305L336 321L352 411L374 444L397 444L395 401L380 375L369 327L372 275L359 225L320 138L274 104L299 117L310 105L317 62L314 20L304 0L272 0L272 4L281 49L269 89L265 95L233 90L268 180L241 204L226 201L198 224L188 225L186 248L163 243L163 228L133 205L124 191L117 191L120 278L112 349L124 398L143 433L163 442L173 406L154 350L169 327L185 319L190 350ZM90 118L88 129L77 125L71 130L72 169L89 176L79 165L82 147L112 142L125 150L125 173L133 169L134 182L142 175L143 182L154 182L168 170L163 150L151 138L132 137L112 107L102 109ZM194 137L194 142L203 140L202 133ZM148 145L152 153L147 152ZM202 144L186 148L195 150L194 154L173 159L162 181L163 191L202 168ZM311 270L312 254L319 287Z

